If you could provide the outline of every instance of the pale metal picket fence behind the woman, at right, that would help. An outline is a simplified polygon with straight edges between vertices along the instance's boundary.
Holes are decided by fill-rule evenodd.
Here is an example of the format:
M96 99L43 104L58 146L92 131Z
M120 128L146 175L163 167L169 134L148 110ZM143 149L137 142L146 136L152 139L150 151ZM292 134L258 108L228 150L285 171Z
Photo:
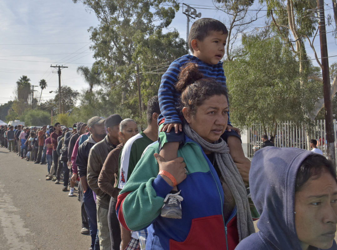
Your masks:
M335 138L335 146L336 146L336 120L333 120L334 124L334 138ZM247 156L253 157L254 150L253 147L261 147L262 141L261 137L265 134L264 129L261 124L254 124L248 131L248 142L249 145L247 147ZM273 132L274 133L274 132ZM322 150L323 154L327 157L327 148L326 148L326 140L325 140L325 120L315 120L315 127L308 131L309 140L315 139L318 142L318 148ZM267 131L267 136L270 138L270 131ZM302 149L308 148L307 141L307 131L303 124L297 125L292 121L284 121L279 123L276 130L276 135L274 138L274 144L276 147L296 147ZM311 149L310 149L311 150ZM335 151L336 147L335 147ZM336 153L337 154L337 153Z

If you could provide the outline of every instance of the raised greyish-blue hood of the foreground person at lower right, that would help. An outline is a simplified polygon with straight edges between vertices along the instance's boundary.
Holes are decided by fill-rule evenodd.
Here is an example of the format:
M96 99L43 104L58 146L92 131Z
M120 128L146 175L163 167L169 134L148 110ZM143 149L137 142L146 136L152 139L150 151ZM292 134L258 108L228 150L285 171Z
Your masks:
M295 229L295 181L303 160L313 154L299 148L265 147L251 161L250 192L261 215L261 236L281 250L302 250Z

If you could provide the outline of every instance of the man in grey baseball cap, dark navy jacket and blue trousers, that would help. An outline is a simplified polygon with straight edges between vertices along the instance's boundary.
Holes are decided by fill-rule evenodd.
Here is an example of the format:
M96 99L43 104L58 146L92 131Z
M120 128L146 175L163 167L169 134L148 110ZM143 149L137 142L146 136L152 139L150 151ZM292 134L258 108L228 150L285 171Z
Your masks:
M98 249L99 246L97 235L97 209L94 200L93 192L87 183L87 166L90 149L106 136L104 128L104 119L99 116L94 116L88 120L88 128L90 130L90 137L79 146L76 165L78 167L78 174L83 188L83 202L88 215L89 229L91 235L91 248ZM98 238L98 237L97 237Z

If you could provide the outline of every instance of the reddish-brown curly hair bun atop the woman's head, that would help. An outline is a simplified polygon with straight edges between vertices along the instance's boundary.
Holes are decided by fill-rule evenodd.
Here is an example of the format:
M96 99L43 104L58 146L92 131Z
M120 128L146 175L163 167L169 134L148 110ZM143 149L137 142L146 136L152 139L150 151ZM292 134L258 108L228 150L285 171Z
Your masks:
M176 90L183 92L188 85L201 78L203 78L203 74L198 70L198 65L195 63L187 63L180 68Z

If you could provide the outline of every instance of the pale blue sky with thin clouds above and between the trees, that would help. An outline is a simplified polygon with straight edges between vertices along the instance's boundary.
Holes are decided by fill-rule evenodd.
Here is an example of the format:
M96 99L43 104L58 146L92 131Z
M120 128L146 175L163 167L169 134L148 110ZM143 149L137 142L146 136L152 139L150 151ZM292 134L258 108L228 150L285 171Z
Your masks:
M223 12L214 10L212 1L194 0L185 3L196 8L197 12L202 12L202 17L219 19L226 24ZM326 12L331 12L331 2L326 3ZM180 9L171 24L184 39L186 20ZM251 27L263 24L264 19L259 19ZM52 98L54 94L49 91L57 89L58 75L50 67L51 64L68 66L62 70L61 84L79 91L87 87L82 77L76 73L76 68L80 65L90 66L94 62L87 30L90 26L97 25L95 14L87 12L80 2L0 0L0 104L13 99L16 81L22 75L27 75L33 85L38 85L39 80L45 79L48 87L43 90L41 101ZM332 29L327 27L327 32ZM327 34L327 39L329 56L337 56L337 46L331 33ZM319 37L315 39L314 46L320 55ZM308 47L307 52L313 58L311 48ZM329 64L336 61L337 57L329 58ZM315 61L313 63L316 65ZM36 89L40 90L39 87ZM39 93L36 95L39 96Z

